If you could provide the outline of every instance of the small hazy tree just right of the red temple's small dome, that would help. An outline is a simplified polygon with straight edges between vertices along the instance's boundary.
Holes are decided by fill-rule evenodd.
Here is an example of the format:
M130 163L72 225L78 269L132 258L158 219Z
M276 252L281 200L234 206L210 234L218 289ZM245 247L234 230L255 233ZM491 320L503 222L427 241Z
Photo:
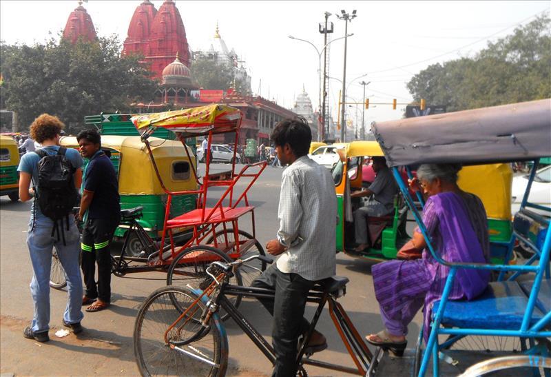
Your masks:
M202 89L228 90L234 88L242 94L250 94L247 82L236 75L229 63L216 62L207 57L199 57L191 64L191 77Z

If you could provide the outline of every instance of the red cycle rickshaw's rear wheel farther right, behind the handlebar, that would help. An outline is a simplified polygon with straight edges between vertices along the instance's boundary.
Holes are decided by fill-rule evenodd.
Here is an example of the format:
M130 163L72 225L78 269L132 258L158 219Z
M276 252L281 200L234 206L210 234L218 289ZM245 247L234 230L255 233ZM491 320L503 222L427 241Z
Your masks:
M225 236L225 234L227 234L227 236ZM266 253L264 252L264 248L262 247L262 245L260 245L260 242L258 242L258 240L256 240L251 234L245 232L244 230L239 230L238 234L240 243L242 243L242 241L254 240L254 245L247 249L244 253L242 253L239 258L245 259L249 258L249 256L259 254L262 256L266 255ZM228 229L226 232L224 232L223 230L219 230L218 232L216 232L216 241L218 243L233 243L235 241L235 238L235 232L231 228ZM209 241L207 241L207 243L213 242L214 237L209 238ZM229 250L228 252L228 254L232 254L232 256L233 253L235 253L235 248ZM258 278L260 274L262 274L262 271L264 271L264 269L266 269L266 262L260 261L260 259L253 259L252 261L243 263L239 267L239 273L241 274L243 285L249 287L252 281Z

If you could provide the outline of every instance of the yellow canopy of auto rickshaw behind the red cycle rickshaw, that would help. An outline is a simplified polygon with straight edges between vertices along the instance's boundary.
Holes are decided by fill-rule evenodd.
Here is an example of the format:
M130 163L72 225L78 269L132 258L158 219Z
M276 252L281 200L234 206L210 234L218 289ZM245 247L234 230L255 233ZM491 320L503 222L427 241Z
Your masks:
M174 179L174 163L189 161L185 147L180 141L150 137L149 144L158 166L159 174L169 190L196 190L197 184L189 169L189 179ZM61 145L78 148L76 137L62 137ZM149 152L140 136L102 135L101 147L115 150L121 154L118 167L118 192L121 195L165 194L156 177L154 167L149 159ZM193 156L189 147L189 155ZM193 157L192 157L193 158Z

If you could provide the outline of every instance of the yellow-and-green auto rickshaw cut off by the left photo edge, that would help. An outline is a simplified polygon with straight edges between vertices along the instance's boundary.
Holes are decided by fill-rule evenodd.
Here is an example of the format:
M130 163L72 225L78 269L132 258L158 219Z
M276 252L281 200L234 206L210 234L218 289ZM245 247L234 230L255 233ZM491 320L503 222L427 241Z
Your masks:
M0 135L0 196L19 201L19 150L10 136Z

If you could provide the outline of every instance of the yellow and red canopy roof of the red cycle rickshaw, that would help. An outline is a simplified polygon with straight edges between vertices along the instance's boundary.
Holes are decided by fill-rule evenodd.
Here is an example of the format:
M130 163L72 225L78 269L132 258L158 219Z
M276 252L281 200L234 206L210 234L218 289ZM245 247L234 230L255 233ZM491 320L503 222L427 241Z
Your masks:
M132 116L132 123L138 130L149 127L167 128L183 136L201 136L212 131L214 134L232 132L239 128L241 112L226 105L207 105L185 110L174 110Z

